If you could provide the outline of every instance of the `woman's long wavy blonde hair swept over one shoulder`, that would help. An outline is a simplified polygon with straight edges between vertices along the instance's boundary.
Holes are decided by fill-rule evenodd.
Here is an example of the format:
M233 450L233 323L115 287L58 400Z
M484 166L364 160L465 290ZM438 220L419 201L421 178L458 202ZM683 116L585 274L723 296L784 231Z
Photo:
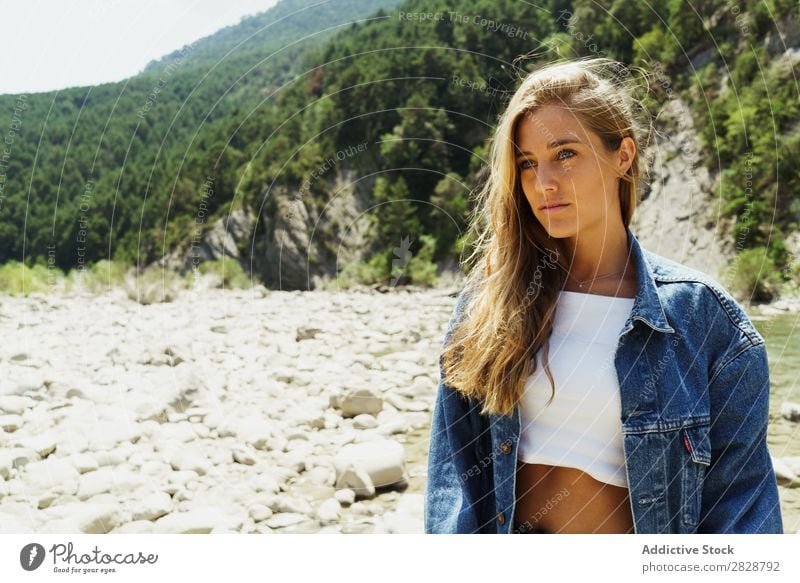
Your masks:
M533 356L544 346L547 362L558 292L568 271L565 247L551 238L527 202L515 163L515 130L520 119L543 105L569 108L608 151L623 137L636 143L636 155L619 182L622 221L627 227L638 202L640 144L652 126L637 122L630 76L633 69L602 57L549 63L523 80L500 116L490 148L489 176L477 194L470 228L475 250L465 261L469 301L449 331L441 355L442 378L465 397L482 403L481 414L511 415L527 377L536 370ZM644 108L641 108L644 112ZM465 289L465 291L467 291Z

